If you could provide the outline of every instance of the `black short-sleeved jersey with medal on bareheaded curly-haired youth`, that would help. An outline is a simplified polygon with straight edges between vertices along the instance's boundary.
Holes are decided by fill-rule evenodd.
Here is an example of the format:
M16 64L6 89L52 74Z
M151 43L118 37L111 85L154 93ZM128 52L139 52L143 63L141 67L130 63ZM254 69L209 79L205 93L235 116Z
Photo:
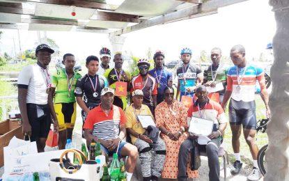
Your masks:
M91 81L93 82L93 86L95 87L95 79L96 79L96 90L93 90L93 86L91 85L91 81L88 78L88 74L81 77L81 79L77 80L76 88L75 88L75 96L82 97L84 96L84 102L87 107L95 106L100 104L100 93L102 88L107 87L107 79L103 76L95 74L95 76L89 75ZM93 97L93 93L96 93L96 97Z

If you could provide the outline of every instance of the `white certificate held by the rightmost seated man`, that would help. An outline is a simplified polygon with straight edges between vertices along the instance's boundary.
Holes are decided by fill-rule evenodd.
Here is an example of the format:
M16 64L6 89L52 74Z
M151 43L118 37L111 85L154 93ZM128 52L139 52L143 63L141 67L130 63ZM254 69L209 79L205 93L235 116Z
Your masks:
M212 120L192 117L189 123L189 132L197 135L208 136L212 133L214 123Z

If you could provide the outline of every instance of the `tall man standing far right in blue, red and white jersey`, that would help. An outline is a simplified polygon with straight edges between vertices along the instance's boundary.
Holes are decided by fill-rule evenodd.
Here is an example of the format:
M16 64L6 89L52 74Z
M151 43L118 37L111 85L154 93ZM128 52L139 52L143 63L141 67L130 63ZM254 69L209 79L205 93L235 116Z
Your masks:
M267 118L270 118L270 108L268 106L268 93L265 86L264 71L256 65L249 64L245 55L245 49L242 45L235 45L231 49L230 56L234 66L229 68L227 72L227 88L221 106L225 109L226 104L231 97L228 110L233 134L232 145L235 154L234 169L231 170L231 173L237 174L242 168L239 138L243 127L244 138L249 145L253 157L253 171L248 176L248 179L259 180L261 175L257 164L258 147L255 143L255 84L257 80L260 84L260 96L265 103Z

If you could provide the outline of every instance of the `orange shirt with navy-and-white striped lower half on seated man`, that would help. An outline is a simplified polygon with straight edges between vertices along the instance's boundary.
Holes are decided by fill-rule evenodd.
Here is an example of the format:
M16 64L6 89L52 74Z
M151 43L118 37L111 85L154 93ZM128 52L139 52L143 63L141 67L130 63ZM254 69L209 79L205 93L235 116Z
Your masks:
M120 132L120 125L126 122L125 113L120 107L112 106L107 115L100 106L89 111L84 129L92 129L97 139L116 139Z

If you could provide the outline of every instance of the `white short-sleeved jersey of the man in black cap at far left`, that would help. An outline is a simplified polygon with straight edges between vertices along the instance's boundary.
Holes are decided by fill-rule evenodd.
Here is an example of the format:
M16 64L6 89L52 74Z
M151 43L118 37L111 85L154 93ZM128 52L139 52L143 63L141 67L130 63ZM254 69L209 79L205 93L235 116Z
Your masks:
M26 103L47 104L47 85L51 84L47 70L28 65L19 72L17 84L28 86Z

